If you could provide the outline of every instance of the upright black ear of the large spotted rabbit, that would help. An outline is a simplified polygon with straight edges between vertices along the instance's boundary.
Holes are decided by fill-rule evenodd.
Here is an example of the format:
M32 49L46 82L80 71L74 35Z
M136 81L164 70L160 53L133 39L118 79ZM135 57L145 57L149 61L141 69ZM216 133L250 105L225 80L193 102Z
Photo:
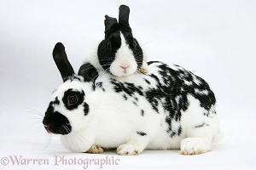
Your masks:
M61 42L56 43L52 55L58 70L61 72L63 82L66 82L68 77L73 76L74 71L72 65L70 65L67 59L65 47Z

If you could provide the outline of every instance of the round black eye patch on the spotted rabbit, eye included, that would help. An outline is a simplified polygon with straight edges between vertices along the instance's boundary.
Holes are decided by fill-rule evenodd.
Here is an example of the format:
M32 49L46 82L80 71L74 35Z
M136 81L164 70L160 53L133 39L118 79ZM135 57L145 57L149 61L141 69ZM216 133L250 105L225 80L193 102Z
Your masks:
M77 109L84 101L84 92L74 91L73 89L68 89L62 99L67 110L72 111Z

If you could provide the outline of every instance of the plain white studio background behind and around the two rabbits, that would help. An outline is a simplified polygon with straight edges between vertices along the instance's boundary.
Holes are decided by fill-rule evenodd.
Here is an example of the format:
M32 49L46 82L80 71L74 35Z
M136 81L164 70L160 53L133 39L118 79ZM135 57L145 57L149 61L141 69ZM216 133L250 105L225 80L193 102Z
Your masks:
M212 151L181 156L178 150L145 150L140 156L74 154L42 119L61 76L51 53L63 42L74 69L104 37L104 15L131 8L130 24L148 60L182 65L209 82L218 100L224 139ZM49 165L0 169L83 169L54 166L54 156L105 159L103 169L255 169L256 2L253 0L0 1L0 159L48 159ZM50 141L50 142L49 142ZM73 163L71 163L73 164ZM90 168L99 169L98 165Z

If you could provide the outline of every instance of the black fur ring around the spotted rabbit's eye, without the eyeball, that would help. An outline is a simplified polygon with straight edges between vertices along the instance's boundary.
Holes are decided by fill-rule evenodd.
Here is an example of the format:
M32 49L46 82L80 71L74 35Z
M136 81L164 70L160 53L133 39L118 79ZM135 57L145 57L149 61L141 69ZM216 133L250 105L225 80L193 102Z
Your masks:
M74 95L77 97L78 101L74 105L70 105L68 102L68 96ZM72 88L68 89L64 93L64 97L62 99L64 105L66 106L67 110L73 111L74 109L77 109L79 105L81 105L84 101L84 91L79 92L79 91L74 91Z

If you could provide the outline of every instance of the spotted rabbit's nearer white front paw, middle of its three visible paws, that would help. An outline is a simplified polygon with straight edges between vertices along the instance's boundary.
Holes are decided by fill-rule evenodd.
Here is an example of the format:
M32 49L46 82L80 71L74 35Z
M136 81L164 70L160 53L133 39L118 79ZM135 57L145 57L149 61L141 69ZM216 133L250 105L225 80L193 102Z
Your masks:
M139 150L137 145L134 144L122 144L116 150L118 155L122 156L137 156L142 153L143 150Z

